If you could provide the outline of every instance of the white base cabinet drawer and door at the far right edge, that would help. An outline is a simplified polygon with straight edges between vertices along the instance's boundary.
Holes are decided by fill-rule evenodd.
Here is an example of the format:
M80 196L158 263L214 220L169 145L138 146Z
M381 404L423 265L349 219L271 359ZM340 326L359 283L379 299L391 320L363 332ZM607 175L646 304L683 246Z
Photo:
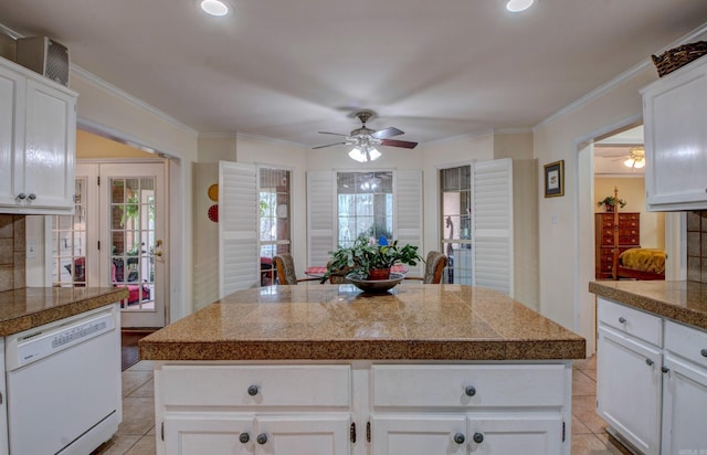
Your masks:
M707 453L707 334L665 322L664 454Z

